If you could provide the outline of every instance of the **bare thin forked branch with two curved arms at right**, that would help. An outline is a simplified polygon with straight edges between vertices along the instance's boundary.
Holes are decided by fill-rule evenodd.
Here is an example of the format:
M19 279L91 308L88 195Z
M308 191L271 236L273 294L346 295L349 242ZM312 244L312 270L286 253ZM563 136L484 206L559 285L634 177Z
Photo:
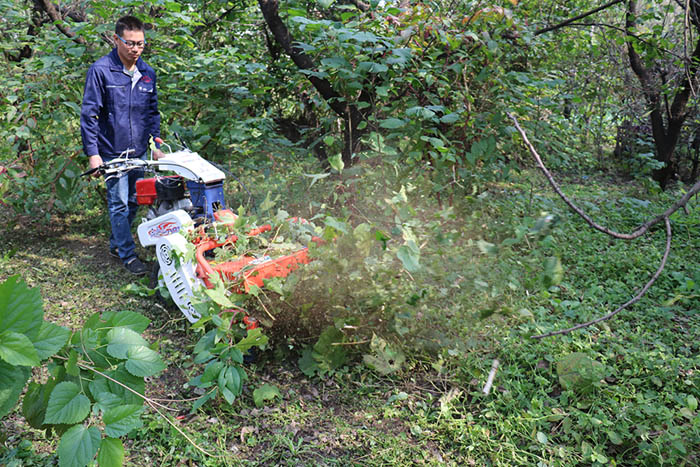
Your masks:
M659 278L659 276L661 275L661 272L662 272L662 271L664 270L664 268L666 267L666 262L668 261L668 255L669 255L669 253L670 253L670 251L671 251L672 232L671 232L671 221L670 221L670 219L669 219L670 216L671 216L674 212L676 212L678 209L680 209L681 207L683 207L683 208L686 207L686 204L688 203L688 201L690 200L690 198L691 198L693 195L695 195L696 193L698 193L698 191L700 191L700 182L697 182L695 185L693 185L693 187L692 187L683 197L681 197L678 201L676 201L670 208L668 208L666 211L664 211L663 213L659 214L658 216L656 216L656 217L654 217L654 218L648 220L647 222L643 223L643 224L642 224L640 227L638 227L634 232L632 232L632 233L630 233L630 234L622 234L622 233L619 233L619 232L615 232L615 231L613 231L613 230L610 230L610 229L607 228L607 227L604 227L604 226L602 226L602 225L597 224L596 222L594 222L593 219L591 219L588 215L586 215L586 213L584 213L583 210L582 210L581 208L579 208L576 204L574 204L574 202L571 201L571 200L561 191L561 188L559 187L559 185L557 184L557 182L554 180L554 177L552 177L552 174L549 172L549 170L547 170L547 167L545 167L544 163L542 162L542 158L541 158L540 155L537 153L537 150L536 150L535 147L532 145L532 143L530 142L530 140L527 138L527 135L525 134L525 130L523 130L522 127L520 126L520 124L519 124L519 122L518 122L518 119L515 118L515 116L514 116L513 114L511 114L510 112L506 112L506 114L508 115L508 117L510 117L511 120L513 120L513 123L515 124L515 128L518 130L518 132L519 132L520 135L522 136L523 141L525 142L525 145L526 145L526 146L528 147L528 149L530 150L530 153L531 153L532 156L535 158L535 161L537 162L538 167L540 168L540 170L542 170L542 173L544 173L544 175L545 175L545 177L547 178L547 180L549 181L550 185L552 185L552 188L554 188L554 191L562 198L562 200L564 200L564 202L565 202L574 212L576 212L579 216L581 216L581 218L583 218L591 227L593 227L593 228L596 229L596 230L599 230L600 232L603 232L603 233L605 233L605 234L608 234L608 235L610 235L611 237L614 237L614 238L619 238L619 239L623 239L623 240L632 240L632 239L639 238L640 236L644 235L644 234L649 230L649 228L651 228L652 226L658 224L658 223L661 222L661 221L664 221L664 224L665 224L665 226L666 226L666 249L665 249L665 251L664 251L663 257L661 258L661 264L659 264L659 267L658 267L658 269L656 270L656 272L654 273L654 275L651 277L651 279L649 279L649 281L644 285L644 287L642 287L642 289L639 291L639 293L637 293L637 295L635 295L633 298L631 298L631 299L630 299L629 301L627 301L626 303L620 305L620 306L619 306L617 309L615 309L614 311L612 311L612 312L610 312L610 313L608 313L608 314L606 314L606 315L604 315L604 316L601 316L601 317L599 317L599 318L593 319L593 320L591 320L591 321L587 321L587 322L585 322L585 323L577 324L576 326L573 326L573 327L570 327L570 328L567 328L567 329L561 329L561 330L558 330L558 331L551 331L551 332L548 332L548 333L545 333L545 334L540 334L540 335L532 336L532 338L533 338L533 339L542 339L542 338L544 338L544 337L550 337L550 336L554 336L554 335L558 335L558 334L568 334L568 333L573 332L573 331L576 331L576 330L578 330L578 329L582 329L582 328L591 326L591 325L593 325L593 324L600 323L601 321L608 320L608 319L612 318L613 316L615 316L616 314L618 314L619 312L621 312L622 310L624 310L624 309L628 308L629 306L631 306L631 305L637 303L637 302L644 296L644 294L647 293L647 291L648 291L649 288L654 284L654 282L656 282L656 280L657 280L657 279ZM486 389L486 388L484 388L484 390L485 390L485 389Z

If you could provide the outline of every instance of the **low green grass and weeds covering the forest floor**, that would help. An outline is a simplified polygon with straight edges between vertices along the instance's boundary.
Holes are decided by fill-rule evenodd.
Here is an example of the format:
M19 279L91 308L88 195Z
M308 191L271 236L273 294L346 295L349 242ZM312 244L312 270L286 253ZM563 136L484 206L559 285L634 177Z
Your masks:
M365 172L344 179L342 190L338 180L309 190L308 179L283 184L273 177L261 186L273 198L284 195L278 206L293 214L337 209L353 223L386 225L393 216L383 203L391 190L384 187L398 190L392 179ZM102 310L128 309L152 320L147 337L159 341L168 369L147 385L148 395L174 400L173 423L212 455L151 412L125 442L129 465L700 462L697 202L689 215L674 216L669 264L644 299L597 326L533 340L631 298L658 266L663 231L635 242L611 241L570 214L534 173L484 187L451 209L423 196L420 180L411 183L409 218L420 236L423 269L410 278L397 271L391 283L374 284L384 286L393 301L387 305L397 310L387 328L405 328L396 340L408 362L391 376L367 369L358 352L332 376L308 378L283 348L248 368L250 381L233 406L215 402L188 415L191 402L180 400L195 397L185 383L196 374L189 356L199 335L171 307L122 291L131 278L107 256L100 209L54 217L48 225L12 222L4 213L0 279L20 274L40 288L45 318L73 328ZM596 219L621 230L660 212L674 196L646 195L637 185L604 178L564 186ZM539 229L543 213L554 217ZM526 234L519 238L518 232ZM560 258L563 268L552 284L544 267L549 257ZM278 339L277 345L289 341ZM566 388L557 364L574 352L602 364L603 373L590 384ZM496 358L494 387L484 395ZM256 408L252 391L264 383L277 386L282 400ZM0 464L52 462L56 441L29 429L19 413L2 426Z

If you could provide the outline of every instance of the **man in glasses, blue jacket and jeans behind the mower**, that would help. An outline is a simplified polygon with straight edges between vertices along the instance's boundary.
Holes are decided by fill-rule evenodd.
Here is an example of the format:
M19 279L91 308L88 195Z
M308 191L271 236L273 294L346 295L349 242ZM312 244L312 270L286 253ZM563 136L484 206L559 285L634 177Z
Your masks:
M90 67L85 80L80 133L90 168L120 155L143 159L150 137L160 136L156 74L141 59L146 46L143 23L133 16L120 18L113 40L115 48ZM162 156L160 149L153 151L155 159ZM109 252L135 275L147 271L131 235L138 209L136 180L142 177L143 170L132 170L105 182L112 225Z

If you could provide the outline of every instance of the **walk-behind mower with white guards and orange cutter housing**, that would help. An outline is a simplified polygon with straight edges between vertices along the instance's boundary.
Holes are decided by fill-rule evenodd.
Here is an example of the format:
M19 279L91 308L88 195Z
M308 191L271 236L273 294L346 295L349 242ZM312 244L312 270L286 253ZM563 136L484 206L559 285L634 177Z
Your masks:
M148 206L138 226L138 238L142 246L155 247L156 277L190 322L201 317L193 305L195 292L201 287L213 288L217 276L229 284L231 292L247 292L253 286L263 287L265 279L286 277L310 261L308 243L303 246L281 238L282 226L265 224L243 234L233 233L245 227L226 208L226 175L196 152L182 148L158 160L130 159L128 155L126 152L83 175L97 170L106 178L121 177L134 169L156 174L136 182L137 202ZM291 226L297 233L305 231L300 238L317 241L305 220L289 218L283 222L287 231ZM266 232L273 237L265 238ZM236 248L238 245L242 247Z

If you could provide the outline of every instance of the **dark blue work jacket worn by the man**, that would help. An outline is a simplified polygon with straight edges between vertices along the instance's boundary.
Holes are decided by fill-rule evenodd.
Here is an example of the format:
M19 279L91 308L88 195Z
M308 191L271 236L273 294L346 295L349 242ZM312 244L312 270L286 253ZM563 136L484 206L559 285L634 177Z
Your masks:
M126 149L134 150L130 157L141 156L148 149L149 137L160 136L156 73L141 58L136 67L141 79L132 87L115 48L88 70L80 112L87 156L111 159Z

